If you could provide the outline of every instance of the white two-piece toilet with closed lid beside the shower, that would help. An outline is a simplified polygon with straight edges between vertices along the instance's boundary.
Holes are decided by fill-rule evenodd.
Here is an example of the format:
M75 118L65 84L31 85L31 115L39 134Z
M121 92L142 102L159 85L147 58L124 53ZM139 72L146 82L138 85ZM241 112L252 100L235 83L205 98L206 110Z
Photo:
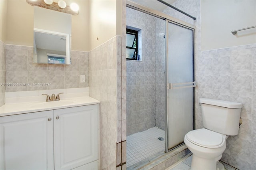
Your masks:
M200 98L204 128L192 130L184 143L193 153L190 170L224 170L218 161L228 136L237 135L242 103Z

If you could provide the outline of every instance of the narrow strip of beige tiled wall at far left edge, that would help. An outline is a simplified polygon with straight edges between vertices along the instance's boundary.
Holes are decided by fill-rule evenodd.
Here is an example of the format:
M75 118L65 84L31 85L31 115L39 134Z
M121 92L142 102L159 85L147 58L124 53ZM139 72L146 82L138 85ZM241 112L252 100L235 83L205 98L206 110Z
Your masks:
M5 83L6 79L6 63L5 63L6 55L4 49L4 43L0 41L0 107L4 105L4 93L5 86L2 83Z

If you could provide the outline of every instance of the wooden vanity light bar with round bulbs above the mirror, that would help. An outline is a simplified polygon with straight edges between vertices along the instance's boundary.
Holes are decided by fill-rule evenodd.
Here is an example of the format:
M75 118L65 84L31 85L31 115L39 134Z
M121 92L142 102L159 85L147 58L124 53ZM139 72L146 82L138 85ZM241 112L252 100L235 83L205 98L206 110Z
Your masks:
M58 3L53 0L26 0L26 2L32 6L39 6L42 8L55 10L58 12L64 12L71 15L79 14L79 6L75 3L68 6L64 0L59 0ZM72 7L74 6L74 7Z

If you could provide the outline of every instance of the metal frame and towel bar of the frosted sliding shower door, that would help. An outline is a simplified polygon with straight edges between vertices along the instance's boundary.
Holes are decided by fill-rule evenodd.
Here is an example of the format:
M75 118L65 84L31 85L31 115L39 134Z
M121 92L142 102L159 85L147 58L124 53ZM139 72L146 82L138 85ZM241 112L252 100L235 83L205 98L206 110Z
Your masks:
M178 22L174 22L172 20L168 20L166 19L166 54L165 54L165 84L166 84L166 88L165 88L165 112L166 112L166 124L165 124L165 133L166 133L166 148L165 148L165 152L169 152L171 150L174 150L175 148L178 148L179 146L183 145L184 142L182 142L181 144L178 144L177 146L174 146L173 148L169 149L169 128L168 128L168 90L169 90L169 83L167 82L168 79L168 56L169 56L169 52L168 52L168 38L169 38L169 29L168 29L168 23L172 23L172 24L176 24L178 26L181 26L183 28L187 28L189 30L192 30L193 32L193 84L194 85L189 85L187 86L187 84L184 83L183 86L179 86L181 88L186 88L186 87L193 87L193 130L195 129L195 87L196 87L196 81L195 81L195 26L191 27L191 25L184 25L184 23L178 23ZM182 84L182 83L180 83ZM189 82L188 84L192 84L192 82Z

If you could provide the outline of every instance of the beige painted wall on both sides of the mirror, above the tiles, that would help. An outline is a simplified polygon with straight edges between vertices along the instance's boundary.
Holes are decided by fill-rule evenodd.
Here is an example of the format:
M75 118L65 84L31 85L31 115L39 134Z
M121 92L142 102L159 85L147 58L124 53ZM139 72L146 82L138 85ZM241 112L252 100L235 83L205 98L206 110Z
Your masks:
M66 2L70 4L71 1ZM80 10L78 15L72 16L72 50L89 51L88 0L73 2L79 5ZM6 44L33 46L33 6L26 0L8 0L6 20Z

